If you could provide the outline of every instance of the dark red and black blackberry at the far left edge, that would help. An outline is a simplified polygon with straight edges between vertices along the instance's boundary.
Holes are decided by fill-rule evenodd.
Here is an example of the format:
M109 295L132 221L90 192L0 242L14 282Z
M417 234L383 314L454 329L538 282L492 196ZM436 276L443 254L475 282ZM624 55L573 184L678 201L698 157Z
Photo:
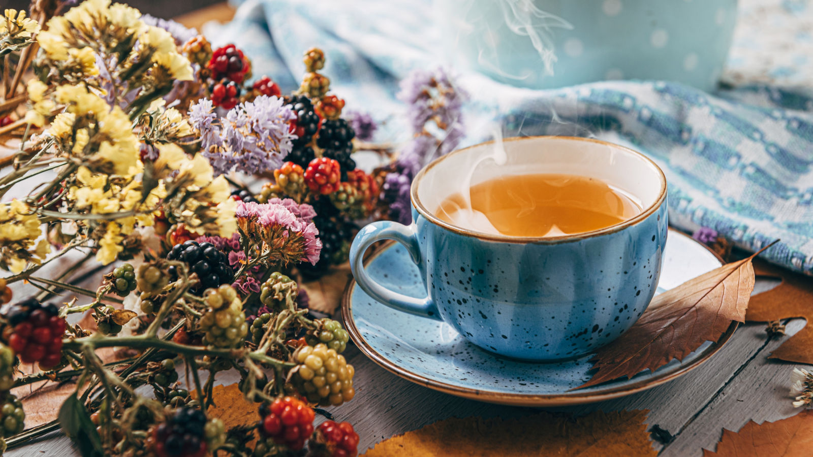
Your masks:
M41 304L28 298L9 309L6 315L10 333L8 346L24 363L39 362L43 370L62 360L62 337L65 320L57 316L54 304Z

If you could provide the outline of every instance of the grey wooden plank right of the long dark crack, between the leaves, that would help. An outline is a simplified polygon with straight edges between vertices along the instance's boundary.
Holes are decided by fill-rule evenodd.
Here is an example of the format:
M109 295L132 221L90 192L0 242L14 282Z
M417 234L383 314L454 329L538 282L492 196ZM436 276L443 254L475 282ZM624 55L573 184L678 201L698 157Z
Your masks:
M715 449L724 428L739 430L749 420L762 423L797 414L799 410L793 407L789 397L790 372L794 367L803 368L805 365L767 359L767 356L804 325L805 320L792 320L785 329L785 337L767 342L763 350L724 386L708 406L699 411L699 415L685 426L661 455L699 456L704 448Z

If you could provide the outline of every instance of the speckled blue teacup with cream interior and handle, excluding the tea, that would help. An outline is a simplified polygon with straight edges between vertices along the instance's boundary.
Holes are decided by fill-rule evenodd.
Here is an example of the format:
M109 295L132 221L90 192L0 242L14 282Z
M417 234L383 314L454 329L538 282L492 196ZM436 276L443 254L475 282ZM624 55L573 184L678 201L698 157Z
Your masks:
M484 143L429 163L412 182L414 222L374 222L355 237L355 280L386 306L442 320L498 355L567 359L604 346L629 329L654 296L667 237L663 172L634 150L592 139L521 137L503 146L504 154ZM435 215L444 198L471 185L533 173L598 178L642 211L593 232L544 238L479 233ZM406 246L426 297L394 292L364 271L364 252L385 239Z

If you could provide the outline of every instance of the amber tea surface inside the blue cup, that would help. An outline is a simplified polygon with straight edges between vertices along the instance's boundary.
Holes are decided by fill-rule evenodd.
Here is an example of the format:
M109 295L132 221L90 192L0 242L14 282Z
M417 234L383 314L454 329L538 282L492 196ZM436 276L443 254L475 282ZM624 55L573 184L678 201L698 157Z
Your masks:
M609 227L641 213L599 179L565 174L506 175L452 194L436 215L450 224L512 237L556 237Z

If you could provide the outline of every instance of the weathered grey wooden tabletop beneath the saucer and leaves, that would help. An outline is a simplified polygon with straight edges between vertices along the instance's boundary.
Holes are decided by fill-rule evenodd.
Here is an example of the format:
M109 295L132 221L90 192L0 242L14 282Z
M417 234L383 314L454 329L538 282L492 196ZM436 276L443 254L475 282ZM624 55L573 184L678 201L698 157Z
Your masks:
M228 20L232 14L232 9L219 5L179 20L188 26L199 26L206 20ZM95 288L92 281L88 285ZM758 281L755 290L770 289L773 285L776 283ZM789 373L794 366L802 365L768 360L767 356L804 325L804 320L789 320L787 335L773 340L767 339L764 324L742 325L717 355L676 381L625 398L550 411L584 414L596 410L650 410L649 426L657 424L674 436L669 444L652 442L661 455L702 455L703 448L715 448L723 428L738 430L748 420L778 420L798 412L788 396ZM354 346L348 347L346 356L356 368L354 384L358 394L350 403L330 408L330 411L338 420L354 424L361 437L359 450L448 417L508 418L538 411L480 403L429 390L380 368ZM234 381L233 376L219 379L220 384ZM68 457L79 454L67 437L52 433L9 450L6 455Z

